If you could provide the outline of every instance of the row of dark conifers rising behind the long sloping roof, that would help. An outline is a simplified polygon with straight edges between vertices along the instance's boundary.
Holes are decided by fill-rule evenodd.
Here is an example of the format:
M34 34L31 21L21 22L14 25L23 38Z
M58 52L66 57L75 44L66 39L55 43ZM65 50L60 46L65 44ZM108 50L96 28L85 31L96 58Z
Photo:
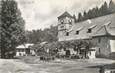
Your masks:
M95 7L95 8L90 9L88 12L84 11L83 15L79 13L77 21L80 22L87 19L92 19L92 18L96 18L96 17L100 17L100 16L112 14L112 13L115 13L115 4L111 0L109 3L109 6L107 5L107 2L104 2L104 4L100 8Z

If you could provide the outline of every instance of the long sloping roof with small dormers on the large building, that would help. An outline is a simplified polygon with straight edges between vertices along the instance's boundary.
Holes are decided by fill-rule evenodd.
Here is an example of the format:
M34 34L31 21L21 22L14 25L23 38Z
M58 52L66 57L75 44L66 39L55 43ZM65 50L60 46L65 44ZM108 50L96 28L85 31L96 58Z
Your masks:
M115 36L115 13L106 16L97 17L94 19L88 19L83 22L74 23L73 31L69 33L69 36L60 36L59 41L68 41L75 39L90 39L92 36ZM83 29L80 29L82 28ZM80 29L79 34L76 31ZM88 33L88 29L91 29L91 33Z

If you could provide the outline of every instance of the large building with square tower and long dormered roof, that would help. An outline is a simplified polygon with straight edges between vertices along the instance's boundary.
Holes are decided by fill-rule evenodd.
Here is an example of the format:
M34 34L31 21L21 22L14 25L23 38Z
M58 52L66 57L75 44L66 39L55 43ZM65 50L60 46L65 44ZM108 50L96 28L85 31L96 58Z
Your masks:
M115 52L115 13L75 23L68 12L58 17L59 41L91 40L96 53L110 57Z

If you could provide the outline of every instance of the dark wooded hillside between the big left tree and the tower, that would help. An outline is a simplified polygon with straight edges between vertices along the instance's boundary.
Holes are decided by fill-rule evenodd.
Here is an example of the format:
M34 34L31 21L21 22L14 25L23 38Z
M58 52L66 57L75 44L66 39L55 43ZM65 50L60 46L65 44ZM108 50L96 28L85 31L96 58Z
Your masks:
M33 30L26 31L26 37L28 38L28 43L38 43L38 42L54 42L58 40L58 29L57 26L51 26L50 28L45 28L44 30Z

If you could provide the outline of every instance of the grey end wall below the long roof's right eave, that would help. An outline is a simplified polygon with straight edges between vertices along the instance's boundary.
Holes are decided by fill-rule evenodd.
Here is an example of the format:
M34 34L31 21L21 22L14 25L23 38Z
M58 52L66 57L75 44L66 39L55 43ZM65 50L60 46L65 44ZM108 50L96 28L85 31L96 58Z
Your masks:
M94 38L93 43L96 47L96 56L98 57L109 57L111 53L110 39L108 37L97 37Z

